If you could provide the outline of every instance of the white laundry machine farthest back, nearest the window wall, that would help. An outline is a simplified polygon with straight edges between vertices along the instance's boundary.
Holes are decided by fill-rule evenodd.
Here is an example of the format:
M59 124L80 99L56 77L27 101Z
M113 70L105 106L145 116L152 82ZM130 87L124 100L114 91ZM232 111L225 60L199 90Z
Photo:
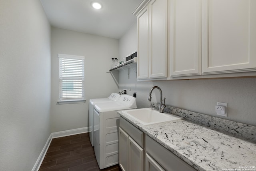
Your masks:
M118 93L111 93L107 98L98 98L98 99L90 99L89 103L89 137L92 144L94 146L94 132L93 132L93 107L96 103L105 103L110 101L118 100L120 95Z

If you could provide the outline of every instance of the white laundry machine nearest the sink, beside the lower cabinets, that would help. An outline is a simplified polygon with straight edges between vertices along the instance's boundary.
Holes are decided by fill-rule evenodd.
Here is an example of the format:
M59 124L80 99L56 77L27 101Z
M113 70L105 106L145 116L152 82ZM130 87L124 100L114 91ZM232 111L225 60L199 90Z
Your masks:
M136 99L121 95L117 101L94 105L94 153L100 169L118 164L118 110L137 108Z

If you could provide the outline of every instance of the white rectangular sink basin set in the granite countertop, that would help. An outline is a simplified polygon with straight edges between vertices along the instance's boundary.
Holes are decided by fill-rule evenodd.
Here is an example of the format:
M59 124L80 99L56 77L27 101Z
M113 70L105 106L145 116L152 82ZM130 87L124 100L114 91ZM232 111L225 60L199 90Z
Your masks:
M160 113L158 110L153 108L123 110L122 113L129 115L143 125L183 119L182 117L176 115Z

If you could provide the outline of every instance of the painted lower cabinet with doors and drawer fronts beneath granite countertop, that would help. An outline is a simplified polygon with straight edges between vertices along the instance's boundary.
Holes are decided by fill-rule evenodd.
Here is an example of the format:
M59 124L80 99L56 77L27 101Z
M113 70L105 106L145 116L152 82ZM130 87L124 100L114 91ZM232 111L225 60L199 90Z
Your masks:
M123 117L119 128L119 165L122 171L196 171Z

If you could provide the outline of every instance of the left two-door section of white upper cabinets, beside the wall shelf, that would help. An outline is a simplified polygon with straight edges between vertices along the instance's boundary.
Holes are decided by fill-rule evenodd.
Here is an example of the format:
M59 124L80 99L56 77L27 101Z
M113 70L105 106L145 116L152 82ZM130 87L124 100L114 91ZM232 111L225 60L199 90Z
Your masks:
M136 14L139 80L167 77L167 13L168 0L152 0Z

